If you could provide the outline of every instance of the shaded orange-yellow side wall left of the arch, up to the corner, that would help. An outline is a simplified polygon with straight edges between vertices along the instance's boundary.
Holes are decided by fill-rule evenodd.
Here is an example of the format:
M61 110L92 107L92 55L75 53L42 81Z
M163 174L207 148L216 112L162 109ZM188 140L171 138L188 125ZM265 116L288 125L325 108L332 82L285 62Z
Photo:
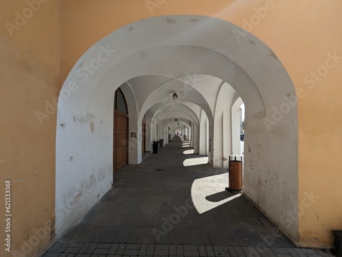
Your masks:
M32 256L54 236L56 113L41 124L36 111L58 94L60 10L57 0L32 2L0 1L0 256ZM10 233L2 219L7 179Z

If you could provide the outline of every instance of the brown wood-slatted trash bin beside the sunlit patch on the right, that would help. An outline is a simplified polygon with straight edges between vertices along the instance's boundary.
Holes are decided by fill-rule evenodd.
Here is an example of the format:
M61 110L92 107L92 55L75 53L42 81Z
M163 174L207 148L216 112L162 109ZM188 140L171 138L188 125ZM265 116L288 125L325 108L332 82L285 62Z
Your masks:
M239 156L240 160L237 160L237 156L229 156L229 187L227 191L239 193L242 191L242 156Z

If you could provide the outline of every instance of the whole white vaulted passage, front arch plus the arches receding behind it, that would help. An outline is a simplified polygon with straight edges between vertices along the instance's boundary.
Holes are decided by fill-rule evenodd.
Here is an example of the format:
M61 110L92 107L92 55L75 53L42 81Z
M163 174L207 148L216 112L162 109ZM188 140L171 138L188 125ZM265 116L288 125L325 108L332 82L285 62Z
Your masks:
M137 21L97 42L75 64L60 97L72 93L57 115L57 234L111 187L112 103L119 86L127 99L129 135L137 133L129 137L129 164L142 160L144 115L148 132L165 132L164 118L155 117L161 109L168 119L173 112L189 122L194 151L208 153L213 167L225 167L234 145L223 131L232 130L231 107L241 97L246 105L244 193L296 240L297 215L290 226L281 221L298 204L298 117L291 79L261 40L205 16ZM186 108L192 113L182 117ZM207 127L205 134L201 127ZM58 212L65 204L68 211Z

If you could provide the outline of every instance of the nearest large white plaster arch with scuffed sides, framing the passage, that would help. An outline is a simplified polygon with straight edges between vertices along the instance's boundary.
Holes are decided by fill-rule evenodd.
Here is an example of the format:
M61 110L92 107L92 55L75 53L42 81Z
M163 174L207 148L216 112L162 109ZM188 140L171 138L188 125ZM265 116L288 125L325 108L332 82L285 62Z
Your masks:
M170 19L174 20L172 24L168 22ZM91 64L99 56L103 61L96 62L101 64L96 73L81 77L83 65ZM108 58L105 60L104 56ZM207 108L209 149L215 147L210 139L218 127L214 120L219 114L213 110L224 101L218 102L215 88L206 91L204 86L198 86L197 74L222 79L243 99L246 138L249 138L246 141L245 193L267 217L278 223L280 230L293 241L297 240L298 215L289 228L281 222L282 214L298 204L295 88L278 58L261 40L236 25L207 16L160 16L137 21L97 42L75 64L63 88L78 88L58 108L56 132L56 206L73 199L75 208L56 217L57 234L79 219L92 207L98 195L110 188L111 157L107 149L111 148L108 133L111 120L107 117L111 113L112 95L109 92L114 92L129 79L162 75L179 82L179 78L187 77L185 84L196 88L194 96L206 101L198 104L204 110ZM130 132L141 131L138 117L148 98L144 93L153 91L148 84L144 89L141 94L131 94L135 118L130 118ZM127 90L134 91L129 84ZM282 119L275 121L274 110L285 105L290 108L282 112ZM92 122L96 133L89 129ZM61 127L61 123L65 125ZM73 147L69 147L70 144ZM137 140L135 144L137 147L131 148L129 156L132 164L141 161L141 141ZM75 156L73 162L67 161L70 156ZM209 161L213 158L213 152L209 153ZM83 173L79 173L80 170ZM66 180L68 183L64 183ZM77 183L81 185L79 191L75 189ZM91 192L87 200L78 202L77 195L88 188Z

